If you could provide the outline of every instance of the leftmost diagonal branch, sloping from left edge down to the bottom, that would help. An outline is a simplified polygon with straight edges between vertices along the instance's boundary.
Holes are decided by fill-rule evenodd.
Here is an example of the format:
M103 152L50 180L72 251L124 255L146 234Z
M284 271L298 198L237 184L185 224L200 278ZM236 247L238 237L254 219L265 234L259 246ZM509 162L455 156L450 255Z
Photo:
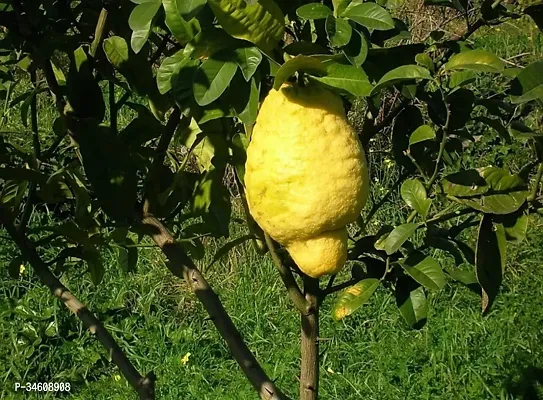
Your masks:
M23 257L32 266L40 281L83 322L85 328L95 335L96 339L106 348L111 360L119 367L119 371L124 375L128 383L138 392L139 398L141 400L153 400L155 398L153 374L151 373L146 377L140 375L100 321L53 275L36 252L34 244L14 228L7 210L1 204L0 223L17 244Z

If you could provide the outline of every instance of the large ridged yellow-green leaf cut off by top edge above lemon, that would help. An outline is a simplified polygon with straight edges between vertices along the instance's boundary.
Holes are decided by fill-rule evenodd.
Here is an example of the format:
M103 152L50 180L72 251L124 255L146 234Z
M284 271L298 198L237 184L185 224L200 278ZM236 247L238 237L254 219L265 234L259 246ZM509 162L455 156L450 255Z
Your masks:
M219 24L237 39L271 53L285 32L285 16L273 0L208 0Z

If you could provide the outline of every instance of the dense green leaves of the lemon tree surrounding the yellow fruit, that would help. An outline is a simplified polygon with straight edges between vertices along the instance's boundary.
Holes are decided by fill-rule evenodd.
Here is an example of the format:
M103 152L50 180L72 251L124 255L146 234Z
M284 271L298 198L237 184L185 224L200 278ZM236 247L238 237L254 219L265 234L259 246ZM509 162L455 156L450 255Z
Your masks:
M398 183L387 190L412 209L372 229L385 194L352 227L340 278L351 277L320 290L324 299L344 289L334 317L372 301L379 284L419 328L430 314L427 293L446 278L477 286L487 313L506 242L523 240L530 215L543 209L543 63L511 67L469 39L524 14L541 27L541 5L426 4L454 10L465 31L411 43L386 1L1 2L0 207L9 217L1 223L28 235L57 275L84 261L95 285L108 252L137 273L149 234L142 214L160 218L202 259L204 238L230 238L240 222L232 202L243 197L260 100L287 80L315 81L348 108L364 104L360 140L368 153L388 140ZM21 93L22 79L31 87ZM56 106L52 126L38 119L44 102ZM16 106L24 129L8 132ZM121 121L121 110L131 118ZM513 157L517 150L525 157ZM483 163L496 152L500 165ZM262 232L247 213L244 220L246 239L258 244ZM244 241L228 241L216 258ZM472 267L444 269L435 251Z

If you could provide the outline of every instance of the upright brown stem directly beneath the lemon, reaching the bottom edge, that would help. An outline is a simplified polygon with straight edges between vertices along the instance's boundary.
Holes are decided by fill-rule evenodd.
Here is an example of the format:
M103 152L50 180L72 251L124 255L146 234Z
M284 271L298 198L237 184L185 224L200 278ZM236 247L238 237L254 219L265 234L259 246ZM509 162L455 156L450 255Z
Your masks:
M304 277L305 298L313 312L302 314L300 400L319 397L319 281Z

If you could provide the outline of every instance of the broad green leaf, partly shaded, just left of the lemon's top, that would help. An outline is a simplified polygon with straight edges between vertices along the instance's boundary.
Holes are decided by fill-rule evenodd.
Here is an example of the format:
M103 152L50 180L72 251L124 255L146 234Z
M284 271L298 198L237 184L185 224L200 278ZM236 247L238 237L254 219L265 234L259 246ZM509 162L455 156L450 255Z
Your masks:
M206 106L217 100L226 90L234 77L237 64L210 58L204 61L194 76L194 98L200 106Z

